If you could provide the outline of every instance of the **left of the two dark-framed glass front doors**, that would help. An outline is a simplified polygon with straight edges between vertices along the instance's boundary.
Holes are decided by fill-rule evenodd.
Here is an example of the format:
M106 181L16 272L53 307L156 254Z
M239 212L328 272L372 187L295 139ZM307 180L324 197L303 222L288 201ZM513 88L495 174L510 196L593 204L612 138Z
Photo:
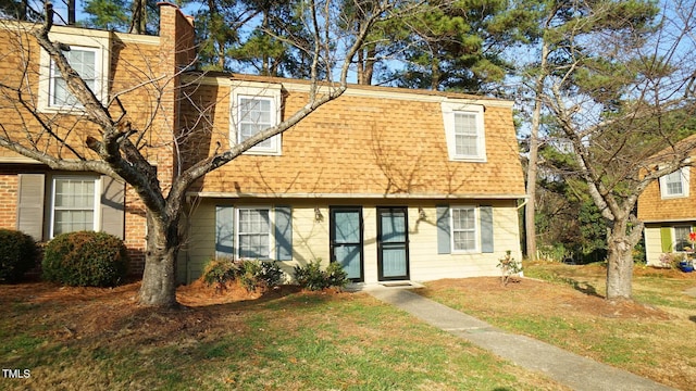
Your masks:
M364 281L362 265L362 209L330 210L331 261L338 262L353 282Z

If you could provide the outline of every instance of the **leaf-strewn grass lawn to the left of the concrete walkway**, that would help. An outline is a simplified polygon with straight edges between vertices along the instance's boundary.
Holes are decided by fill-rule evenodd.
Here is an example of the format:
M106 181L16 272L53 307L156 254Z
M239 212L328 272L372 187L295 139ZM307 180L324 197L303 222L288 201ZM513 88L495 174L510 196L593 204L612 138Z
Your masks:
M0 389L563 389L364 293L173 313L116 307L109 295L8 305L1 293L0 365L32 377Z

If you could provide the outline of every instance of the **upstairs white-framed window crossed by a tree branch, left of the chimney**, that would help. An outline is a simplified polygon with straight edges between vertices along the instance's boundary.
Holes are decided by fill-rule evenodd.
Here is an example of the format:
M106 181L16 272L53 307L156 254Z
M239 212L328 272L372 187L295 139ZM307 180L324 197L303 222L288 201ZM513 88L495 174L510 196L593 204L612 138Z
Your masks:
M51 39L70 49L64 50L63 55L102 103L108 99L107 80L111 55L109 34L109 31L99 30L85 35L50 33ZM82 104L67 90L65 80L50 55L44 50L40 55L38 98L38 106L41 111L80 112L83 110Z

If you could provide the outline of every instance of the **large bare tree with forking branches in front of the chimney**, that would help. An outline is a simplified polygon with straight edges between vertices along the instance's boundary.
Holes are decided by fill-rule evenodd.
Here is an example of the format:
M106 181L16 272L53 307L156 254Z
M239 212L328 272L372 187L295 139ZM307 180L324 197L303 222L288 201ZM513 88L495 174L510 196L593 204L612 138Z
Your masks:
M182 217L186 209L187 189L206 174L264 140L290 129L324 103L340 97L348 86L353 58L374 24L397 17L400 13L409 13L414 5L412 1L374 1L372 8L365 10L360 29L350 35L349 41L340 45L337 43L332 27L335 16L339 14L337 7L331 0L307 1L303 4L306 23L311 26L313 35L309 46L298 43L299 49L312 59L307 103L295 113L286 113L279 124L268 127L243 142L231 143L228 148L221 147L198 161L188 162L186 166L174 167L171 180L163 180L148 159L148 149L158 140L166 143L167 148L176 149L178 141L187 135L177 129L176 117L165 118L165 122L171 123L169 135L157 134L156 127L148 124L153 123L154 116L161 114L162 106L173 106L172 100L182 99L178 84L186 72L173 68L164 76L157 76L157 72L152 72L147 80L126 86L123 91L113 92L104 101L96 97L86 80L71 67L61 50L62 45L50 39L53 10L47 3L44 24L25 29L26 36L16 39L20 50L15 54L28 60L32 51L36 50L33 42L37 42L60 71L66 89L80 106L80 114L55 113L47 117L38 110L35 92L32 92L30 81L27 81L32 78L29 73L33 65L30 61L22 62L25 77L18 83L0 85L3 108L16 109L14 119L2 126L0 146L53 169L100 173L120 178L133 187L148 216L146 264L139 302L145 305L173 306L176 304L175 262L186 236ZM324 83L319 77L322 67L336 70L328 73L330 79ZM142 73L147 73L146 71L142 70ZM334 78L332 74L337 76ZM127 92L137 91L145 91L145 94L150 96L150 101L157 102L150 112L152 121L139 122L138 124L145 124L140 128L135 122L128 121L127 105L122 104L120 99ZM95 127L96 131L89 135L80 133L86 124ZM176 161L173 163L178 164Z

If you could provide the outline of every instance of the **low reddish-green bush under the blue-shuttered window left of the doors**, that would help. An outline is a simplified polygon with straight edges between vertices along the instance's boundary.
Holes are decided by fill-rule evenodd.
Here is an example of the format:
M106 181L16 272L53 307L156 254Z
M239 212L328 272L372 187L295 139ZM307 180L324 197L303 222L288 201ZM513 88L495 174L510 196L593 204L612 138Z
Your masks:
M209 286L216 285L217 290L231 281L238 281L249 292L257 289L268 290L281 285L283 270L273 261L232 261L228 258L212 260L203 270L203 281Z

